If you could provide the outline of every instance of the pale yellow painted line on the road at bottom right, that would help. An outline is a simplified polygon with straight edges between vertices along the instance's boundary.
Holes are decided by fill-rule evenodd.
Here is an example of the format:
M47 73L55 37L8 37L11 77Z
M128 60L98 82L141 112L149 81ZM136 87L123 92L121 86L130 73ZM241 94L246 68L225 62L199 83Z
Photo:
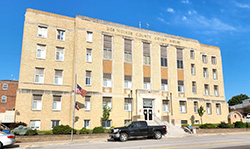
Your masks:
M194 145L182 145L182 146L159 147L159 148L152 148L152 149L185 148L185 147L210 146L210 145L223 145L223 144L238 144L238 143L250 143L250 141L221 142L221 143L207 143L207 144L194 144Z

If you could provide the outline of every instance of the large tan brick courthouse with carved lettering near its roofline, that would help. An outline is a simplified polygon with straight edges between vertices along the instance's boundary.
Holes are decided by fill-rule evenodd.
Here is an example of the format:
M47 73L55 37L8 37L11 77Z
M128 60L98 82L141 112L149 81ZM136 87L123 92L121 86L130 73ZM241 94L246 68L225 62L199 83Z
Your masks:
M27 9L25 14L16 121L50 130L133 120L175 125L227 121L221 52L196 39L77 15L75 18ZM192 121L191 121L192 119Z

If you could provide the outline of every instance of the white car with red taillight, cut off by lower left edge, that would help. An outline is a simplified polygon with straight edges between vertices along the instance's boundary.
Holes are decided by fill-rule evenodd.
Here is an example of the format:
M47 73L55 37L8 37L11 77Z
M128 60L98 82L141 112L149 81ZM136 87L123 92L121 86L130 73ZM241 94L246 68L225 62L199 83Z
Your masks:
M14 134L6 134L0 131L0 148L11 146L16 142Z

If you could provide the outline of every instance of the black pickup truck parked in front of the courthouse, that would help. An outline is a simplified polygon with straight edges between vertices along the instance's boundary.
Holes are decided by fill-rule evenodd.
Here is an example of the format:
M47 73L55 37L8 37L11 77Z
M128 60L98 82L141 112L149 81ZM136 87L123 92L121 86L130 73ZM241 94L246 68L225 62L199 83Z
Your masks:
M124 127L116 127L110 130L109 136L114 140L127 141L132 137L148 137L161 139L167 133L167 126L148 126L146 121L134 121Z

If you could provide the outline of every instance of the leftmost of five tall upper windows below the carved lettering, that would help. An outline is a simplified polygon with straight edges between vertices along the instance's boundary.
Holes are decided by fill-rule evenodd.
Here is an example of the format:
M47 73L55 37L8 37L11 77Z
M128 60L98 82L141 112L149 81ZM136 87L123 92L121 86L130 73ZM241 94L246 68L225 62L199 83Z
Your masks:
M104 35L103 59L112 59L112 37Z

